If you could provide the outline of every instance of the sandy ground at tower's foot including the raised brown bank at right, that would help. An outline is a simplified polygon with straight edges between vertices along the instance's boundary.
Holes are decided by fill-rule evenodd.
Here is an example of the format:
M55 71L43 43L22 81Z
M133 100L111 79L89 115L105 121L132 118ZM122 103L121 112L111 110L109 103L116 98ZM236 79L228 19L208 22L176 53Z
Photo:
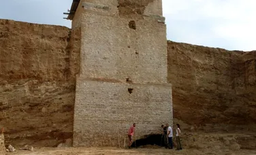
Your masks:
M139 146L138 148L37 148L31 151L19 150L7 153L19 155L56 154L56 155L117 155L117 154L187 154L187 155L256 155L256 135L253 133L184 133L182 135L183 150L167 150L160 146Z

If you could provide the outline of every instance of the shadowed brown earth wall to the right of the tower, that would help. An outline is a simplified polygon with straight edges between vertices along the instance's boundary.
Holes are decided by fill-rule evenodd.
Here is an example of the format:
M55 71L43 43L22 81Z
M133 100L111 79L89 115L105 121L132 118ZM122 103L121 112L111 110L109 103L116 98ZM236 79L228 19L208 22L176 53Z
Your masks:
M256 51L168 41L174 118L204 131L255 130Z

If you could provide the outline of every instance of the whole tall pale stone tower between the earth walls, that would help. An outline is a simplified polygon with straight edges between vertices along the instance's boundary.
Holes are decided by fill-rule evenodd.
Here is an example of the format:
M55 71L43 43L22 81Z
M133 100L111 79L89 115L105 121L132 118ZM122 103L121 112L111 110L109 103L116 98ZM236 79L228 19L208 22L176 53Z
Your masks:
M74 0L68 16L81 30L74 146L123 145L172 124L167 39L161 0Z

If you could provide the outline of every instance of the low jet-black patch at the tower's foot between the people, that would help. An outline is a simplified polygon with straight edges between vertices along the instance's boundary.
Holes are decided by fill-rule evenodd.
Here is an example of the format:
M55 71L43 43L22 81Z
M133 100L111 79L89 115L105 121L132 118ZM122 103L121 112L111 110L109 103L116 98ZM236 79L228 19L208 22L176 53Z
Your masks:
M143 146L159 146L164 147L164 139L161 134L144 135L144 138L137 139L131 144L131 148L138 148Z

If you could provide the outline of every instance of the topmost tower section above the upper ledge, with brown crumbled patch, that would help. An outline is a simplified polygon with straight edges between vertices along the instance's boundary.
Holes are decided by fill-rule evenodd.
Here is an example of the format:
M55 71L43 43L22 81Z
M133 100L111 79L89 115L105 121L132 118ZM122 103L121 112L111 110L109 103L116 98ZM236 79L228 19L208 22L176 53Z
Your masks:
M72 28L80 27L82 14L97 12L104 16L130 20L159 20L164 22L161 0L80 0L72 21Z

